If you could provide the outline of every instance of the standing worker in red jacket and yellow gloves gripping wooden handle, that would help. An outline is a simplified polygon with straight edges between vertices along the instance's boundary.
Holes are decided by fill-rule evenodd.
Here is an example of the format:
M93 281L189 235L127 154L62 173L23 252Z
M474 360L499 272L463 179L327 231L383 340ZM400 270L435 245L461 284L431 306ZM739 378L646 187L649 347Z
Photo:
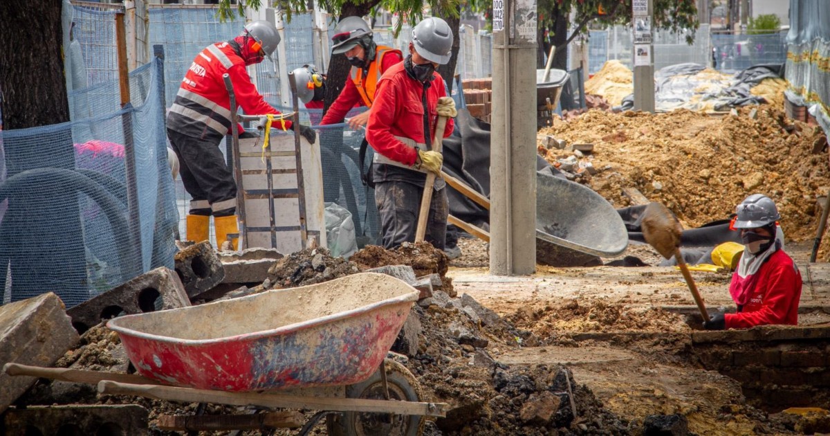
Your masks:
M443 156L432 151L438 115L447 116L443 137L452 133L456 106L435 72L450 60L452 29L429 17L413 29L409 56L378 81L366 139L374 149L372 174L383 247L413 242L427 172L439 175L432 193L427 242L444 249L447 233L447 190L440 177Z

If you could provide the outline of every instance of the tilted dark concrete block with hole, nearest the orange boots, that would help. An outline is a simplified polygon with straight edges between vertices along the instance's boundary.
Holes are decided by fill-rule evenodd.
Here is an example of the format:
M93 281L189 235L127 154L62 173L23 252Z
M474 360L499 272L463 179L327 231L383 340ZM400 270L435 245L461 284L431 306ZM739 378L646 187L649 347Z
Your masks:
M176 253L176 274L191 301L222 283L225 268L210 242L203 241Z

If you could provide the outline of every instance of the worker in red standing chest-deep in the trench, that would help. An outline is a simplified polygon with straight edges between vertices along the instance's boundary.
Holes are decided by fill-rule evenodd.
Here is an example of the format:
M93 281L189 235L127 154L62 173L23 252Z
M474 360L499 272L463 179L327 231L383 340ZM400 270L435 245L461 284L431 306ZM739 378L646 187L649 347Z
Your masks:
M706 330L741 329L770 324L798 324L801 273L784 252L781 218L773 200L752 194L740 203L732 227L740 231L744 253L730 282L737 313L712 316Z

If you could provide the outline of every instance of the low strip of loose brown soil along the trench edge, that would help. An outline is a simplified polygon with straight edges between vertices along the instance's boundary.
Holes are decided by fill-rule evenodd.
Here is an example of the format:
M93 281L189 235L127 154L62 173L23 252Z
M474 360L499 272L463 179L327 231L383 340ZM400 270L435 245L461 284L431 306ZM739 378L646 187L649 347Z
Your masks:
M572 331L691 332L684 317L659 307L610 305L602 300L574 299L544 307L525 306L507 320L516 328L547 338Z

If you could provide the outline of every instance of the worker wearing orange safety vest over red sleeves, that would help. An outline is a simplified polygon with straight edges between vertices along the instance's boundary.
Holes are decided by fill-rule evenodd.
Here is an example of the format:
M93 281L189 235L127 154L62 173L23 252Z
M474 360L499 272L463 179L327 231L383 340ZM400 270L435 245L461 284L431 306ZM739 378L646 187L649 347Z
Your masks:
M371 109L375 99L378 80L390 67L403 61L400 50L378 46L372 38L369 25L361 17L345 17L334 27L332 55L344 54L352 65L349 77L337 100L320 121L320 125L342 122L355 105ZM369 110L349 118L349 127L359 129L369 120Z

